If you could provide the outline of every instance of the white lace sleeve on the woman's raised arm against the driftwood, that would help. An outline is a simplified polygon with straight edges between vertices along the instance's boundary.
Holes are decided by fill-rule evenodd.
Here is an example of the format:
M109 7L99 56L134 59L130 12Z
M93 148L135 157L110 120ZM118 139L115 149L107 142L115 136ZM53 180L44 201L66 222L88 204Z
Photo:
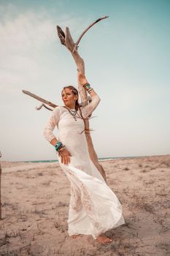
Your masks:
M88 118L88 116L90 116L93 113L93 111L98 106L98 103L101 101L101 99L98 97L97 94L93 96L91 99L92 101L87 106L85 106L84 108L81 108L82 117L84 118Z

